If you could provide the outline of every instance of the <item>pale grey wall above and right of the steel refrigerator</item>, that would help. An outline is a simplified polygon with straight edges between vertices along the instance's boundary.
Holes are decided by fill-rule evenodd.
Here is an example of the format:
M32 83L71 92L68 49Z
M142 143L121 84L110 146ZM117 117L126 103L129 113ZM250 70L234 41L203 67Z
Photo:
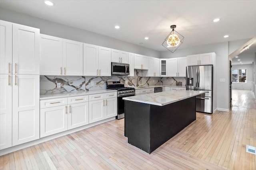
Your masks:
M228 58L228 42L215 43L209 45L201 45L186 49L177 49L175 53L163 51L160 58L186 57L187 55L216 53L217 69L217 107L219 110L229 110L229 58ZM225 78L225 82L220 82L220 78Z

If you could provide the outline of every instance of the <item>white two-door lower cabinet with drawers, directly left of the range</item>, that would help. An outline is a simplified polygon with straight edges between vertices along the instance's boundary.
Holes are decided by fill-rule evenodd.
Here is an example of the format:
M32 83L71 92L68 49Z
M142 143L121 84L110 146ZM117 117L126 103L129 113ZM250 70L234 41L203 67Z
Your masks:
M117 116L116 92L89 95L89 123Z

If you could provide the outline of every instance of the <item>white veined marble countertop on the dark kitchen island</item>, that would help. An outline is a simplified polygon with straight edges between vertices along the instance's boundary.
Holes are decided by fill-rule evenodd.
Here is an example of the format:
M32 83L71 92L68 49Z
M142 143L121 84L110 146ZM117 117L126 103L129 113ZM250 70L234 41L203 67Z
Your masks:
M156 106L164 106L180 100L191 98L205 93L204 91L192 91L192 90L172 90L168 92L159 92L152 94L143 94L138 96L125 97L123 100L132 102L140 102L145 104L152 104Z

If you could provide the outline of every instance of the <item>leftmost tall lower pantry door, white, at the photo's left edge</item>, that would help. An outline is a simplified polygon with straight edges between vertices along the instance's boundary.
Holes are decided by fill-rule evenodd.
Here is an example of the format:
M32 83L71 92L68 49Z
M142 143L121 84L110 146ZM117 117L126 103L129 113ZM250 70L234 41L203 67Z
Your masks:
M12 75L0 74L0 150L12 146Z

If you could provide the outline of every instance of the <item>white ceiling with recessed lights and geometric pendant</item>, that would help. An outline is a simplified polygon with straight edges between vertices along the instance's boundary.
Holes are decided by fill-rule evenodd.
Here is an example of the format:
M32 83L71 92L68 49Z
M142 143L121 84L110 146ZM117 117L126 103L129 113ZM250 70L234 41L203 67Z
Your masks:
M0 7L157 51L166 51L162 43L171 31L170 25L177 25L175 30L185 37L180 49L256 36L256 0L52 2L55 6L46 6L44 0L0 0ZM215 18L220 21L214 23ZM120 29L116 30L115 25Z

